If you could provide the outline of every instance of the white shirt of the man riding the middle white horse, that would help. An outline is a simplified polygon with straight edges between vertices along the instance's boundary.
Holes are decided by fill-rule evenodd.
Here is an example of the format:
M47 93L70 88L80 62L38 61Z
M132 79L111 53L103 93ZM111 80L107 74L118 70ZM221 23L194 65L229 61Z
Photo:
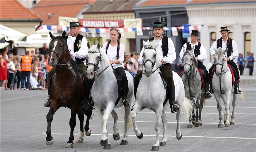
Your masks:
M154 37L154 39L155 39L155 37ZM159 44L158 44L158 47L160 47L161 50L162 50L162 39L159 40ZM148 45L148 43L149 43L149 40L146 42L146 45ZM168 50L167 56L165 56L165 57L164 57L163 51L160 51L159 60L163 59L164 63L172 64L173 61L176 59L176 52L175 52L174 44L170 37L168 37L168 48L169 48L169 50ZM138 60L140 64L142 64L143 51L144 51L144 47L142 48L142 50L140 52L140 57Z

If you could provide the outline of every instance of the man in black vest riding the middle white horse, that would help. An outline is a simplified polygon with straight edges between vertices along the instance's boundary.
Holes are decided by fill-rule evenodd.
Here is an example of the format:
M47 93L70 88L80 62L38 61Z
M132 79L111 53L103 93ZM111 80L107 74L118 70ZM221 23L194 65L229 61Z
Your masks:
M162 72L161 74L164 75L167 79L168 83L168 89L169 89L169 103L171 107L171 112L177 112L180 110L179 106L175 103L175 86L173 82L173 77L172 77L172 67L171 64L172 62L176 59L176 53L175 53L175 48L174 44L172 42L172 39L170 37L162 35L164 29L164 23L162 22L154 22L153 26L153 32L154 32L154 37L151 37L148 42L153 41L154 39L160 40L158 47L161 47L162 52L160 53L160 57L157 60L161 60L163 63L160 71ZM140 52L140 57L139 57L139 63L142 63L142 54L144 51L144 47L142 48ZM140 78L142 77L142 71L140 71L135 77L134 77L134 95L136 98L136 93L137 93L137 88L140 83Z

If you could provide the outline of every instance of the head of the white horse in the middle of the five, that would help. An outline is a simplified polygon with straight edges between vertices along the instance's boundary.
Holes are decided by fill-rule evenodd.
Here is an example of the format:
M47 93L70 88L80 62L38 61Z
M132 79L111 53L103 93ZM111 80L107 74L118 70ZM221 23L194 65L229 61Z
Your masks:
M153 40L148 43L148 45L145 44L145 41L143 41L144 51L142 55L142 61L144 65L144 72L145 76L150 76L152 73L154 73L156 70L153 71L153 68L160 66L161 62L159 59L159 49L157 48L159 44L158 40ZM149 62L148 62L149 61Z

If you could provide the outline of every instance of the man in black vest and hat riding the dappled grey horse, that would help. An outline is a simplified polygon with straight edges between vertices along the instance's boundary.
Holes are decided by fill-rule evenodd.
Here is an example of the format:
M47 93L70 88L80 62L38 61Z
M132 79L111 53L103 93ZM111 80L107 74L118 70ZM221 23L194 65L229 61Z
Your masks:
M199 35L200 34L199 34L198 30L194 30L194 29L192 30L191 35L190 35L191 41L185 43L183 45L183 47L181 48L180 58L182 59L184 50L187 51L187 50L194 49L193 55L196 57L196 60L198 61L197 68L200 68L200 70L204 70L204 73L206 75L204 77L204 82L205 82L204 92L205 92L205 98L209 99L209 98L212 98L212 95L209 92L209 74L208 74L208 71L206 70L205 66L203 65L203 61L206 60L207 54L206 54L206 50L205 50L203 44L200 44L197 42Z

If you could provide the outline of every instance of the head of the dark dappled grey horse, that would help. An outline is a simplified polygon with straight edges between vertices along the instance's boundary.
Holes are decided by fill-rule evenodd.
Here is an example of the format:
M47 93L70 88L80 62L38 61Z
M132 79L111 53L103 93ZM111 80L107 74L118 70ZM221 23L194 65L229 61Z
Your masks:
M198 62L197 62L195 56L193 55L194 50L185 51L185 49L183 48L183 51L185 53L182 58L182 65L184 68L184 74L188 76L191 74L192 71L195 70Z

